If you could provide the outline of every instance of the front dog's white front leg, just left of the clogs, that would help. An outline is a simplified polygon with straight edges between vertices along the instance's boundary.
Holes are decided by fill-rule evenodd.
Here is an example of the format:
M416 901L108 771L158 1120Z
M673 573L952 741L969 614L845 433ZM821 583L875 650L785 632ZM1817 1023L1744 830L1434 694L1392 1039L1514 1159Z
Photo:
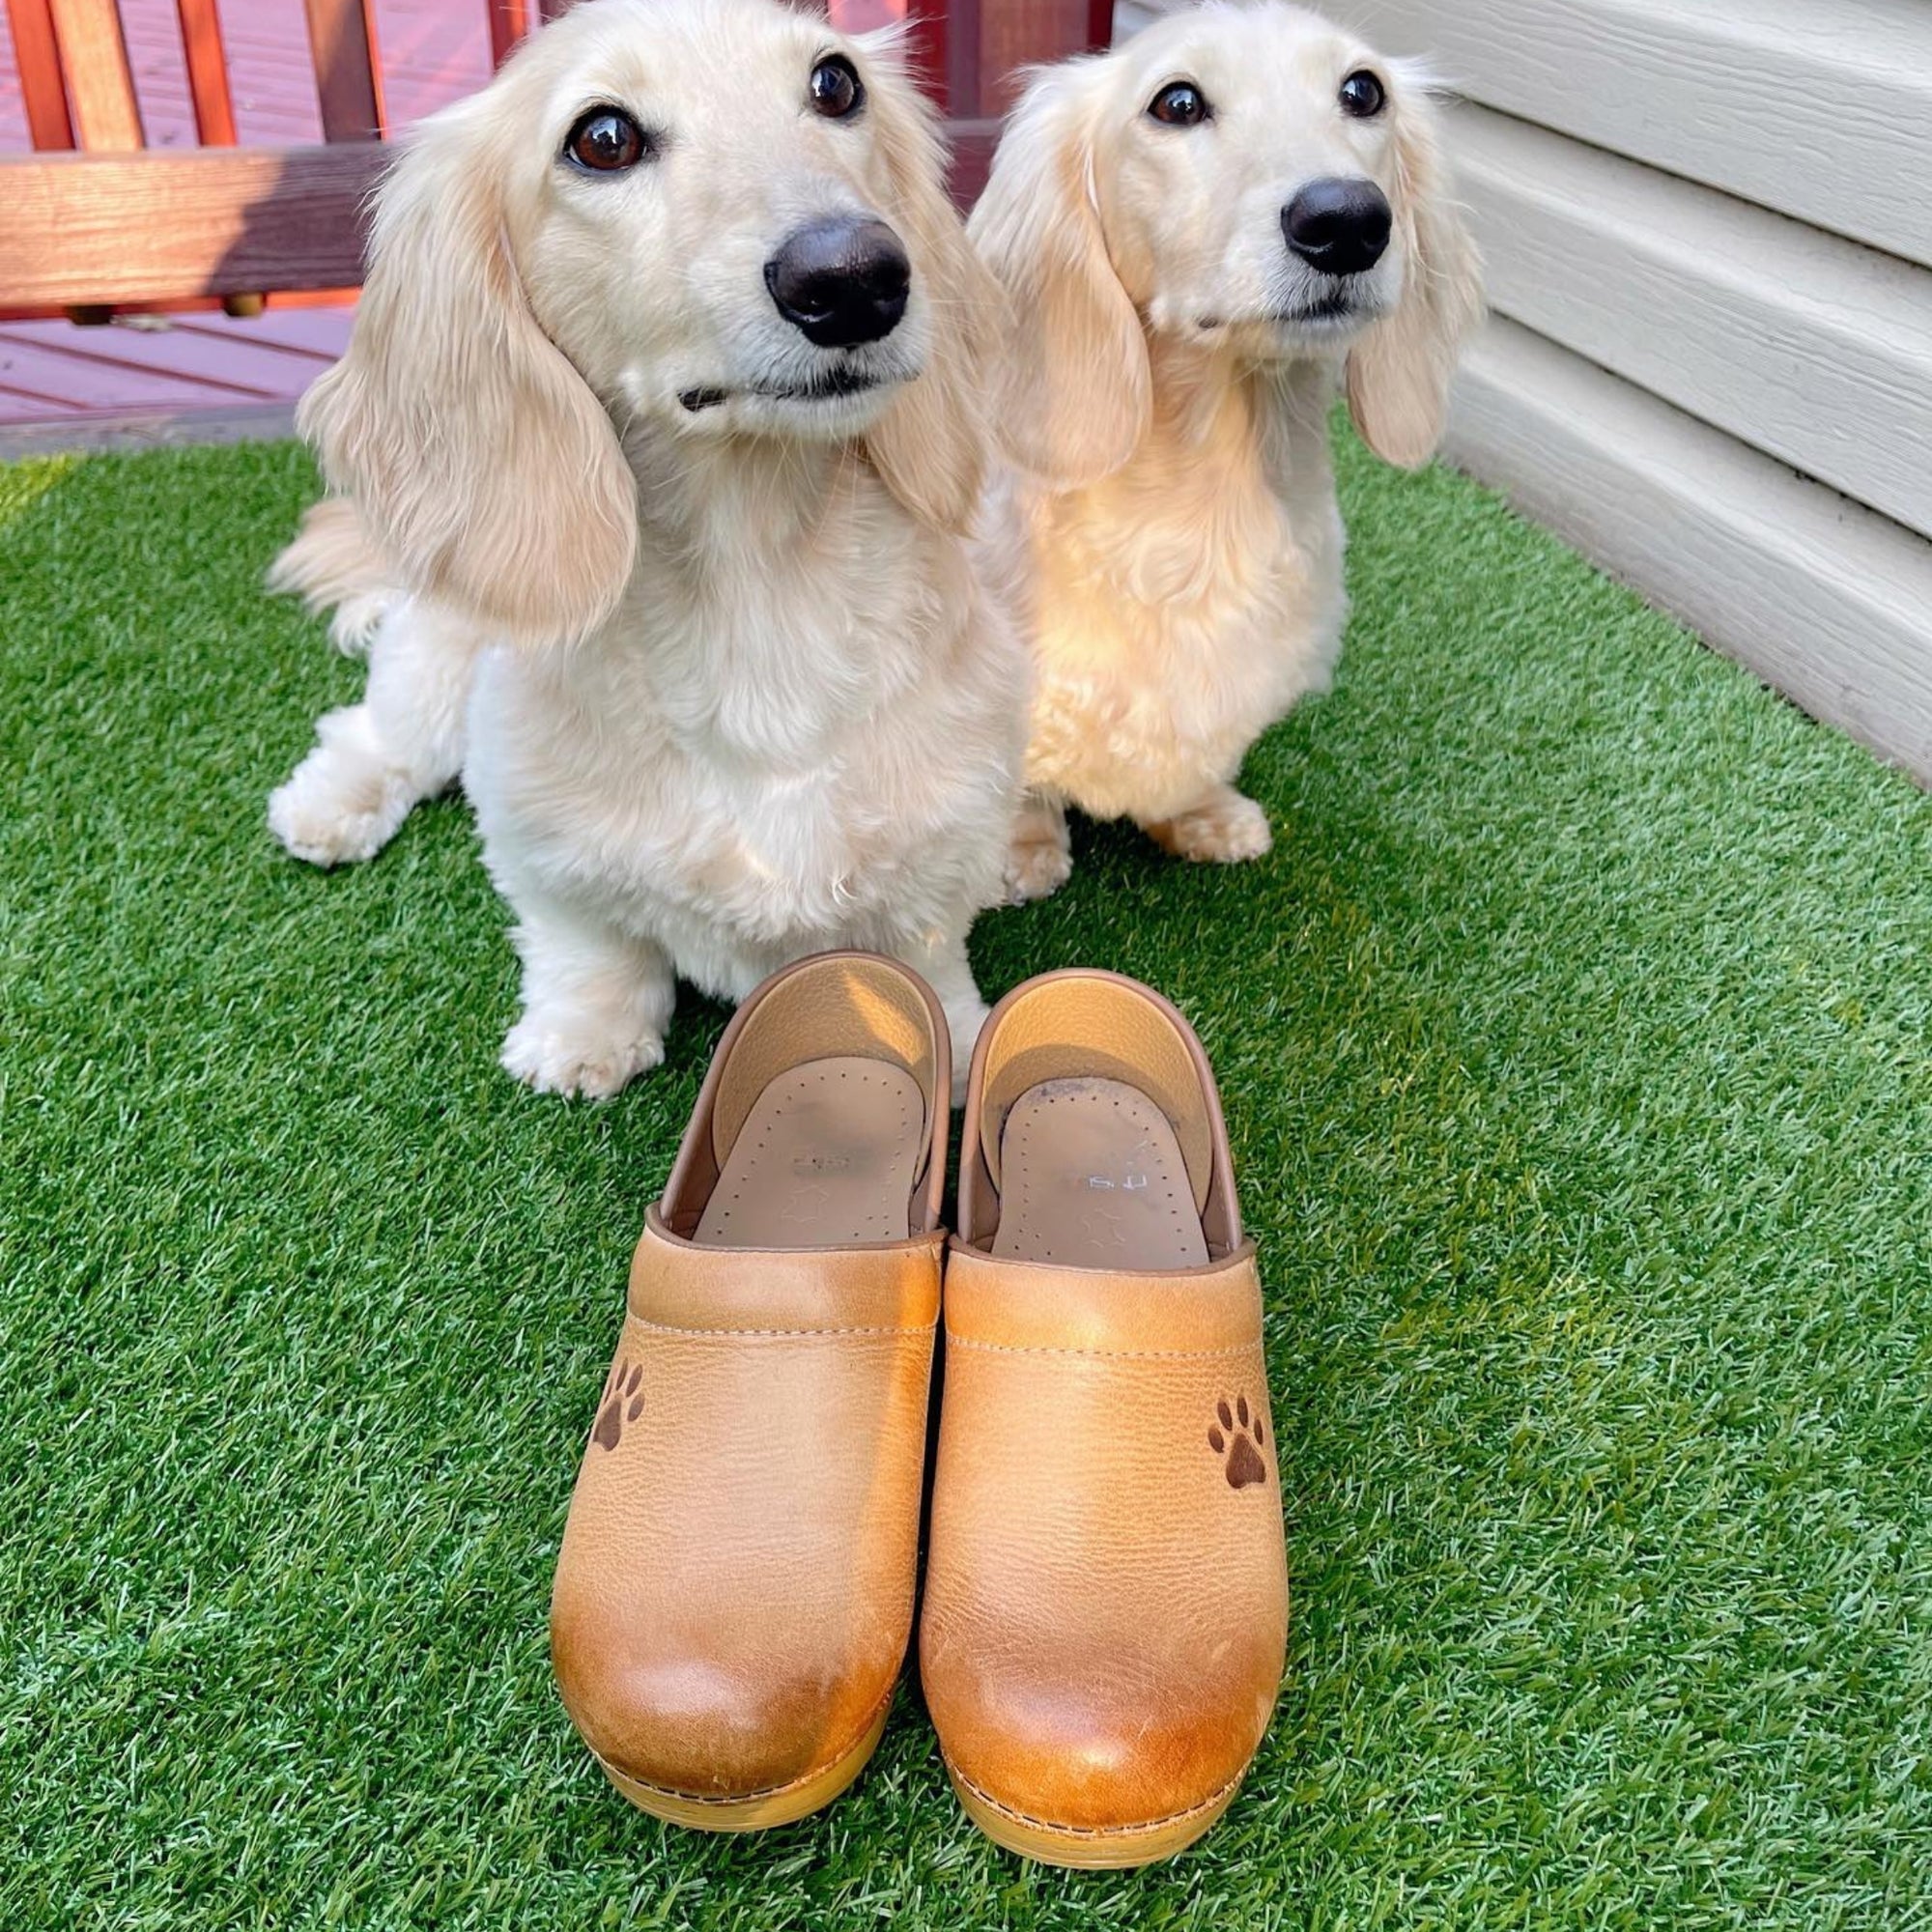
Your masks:
M607 1099L665 1057L676 980L663 947L554 900L512 893L524 1016L502 1065L539 1094Z

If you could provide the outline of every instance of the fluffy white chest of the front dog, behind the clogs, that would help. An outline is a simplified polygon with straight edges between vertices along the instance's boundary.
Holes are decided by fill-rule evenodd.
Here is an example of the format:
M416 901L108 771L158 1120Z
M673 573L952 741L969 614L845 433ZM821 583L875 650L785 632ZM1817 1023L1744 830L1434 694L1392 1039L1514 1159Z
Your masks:
M929 539L840 535L852 568L821 553L815 605L790 572L686 553L647 558L578 649L489 653L466 786L512 898L582 906L740 999L802 952L906 952L995 896L1020 645L962 568L895 554Z

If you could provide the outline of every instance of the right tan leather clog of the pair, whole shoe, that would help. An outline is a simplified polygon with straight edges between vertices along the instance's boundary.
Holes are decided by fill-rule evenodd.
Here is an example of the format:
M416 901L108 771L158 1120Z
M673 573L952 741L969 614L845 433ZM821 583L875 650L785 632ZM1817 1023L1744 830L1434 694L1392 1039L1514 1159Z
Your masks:
M974 1822L1051 1864L1227 1810L1287 1650L1262 1291L1213 1074L1132 980L1030 980L974 1053L920 1675Z

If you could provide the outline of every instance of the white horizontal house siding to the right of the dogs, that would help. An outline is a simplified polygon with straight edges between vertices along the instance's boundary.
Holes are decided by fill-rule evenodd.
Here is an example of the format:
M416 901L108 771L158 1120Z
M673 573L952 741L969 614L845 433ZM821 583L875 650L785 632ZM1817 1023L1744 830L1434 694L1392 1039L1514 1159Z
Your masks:
M1451 460L1932 779L1932 4L1325 10L1468 100Z

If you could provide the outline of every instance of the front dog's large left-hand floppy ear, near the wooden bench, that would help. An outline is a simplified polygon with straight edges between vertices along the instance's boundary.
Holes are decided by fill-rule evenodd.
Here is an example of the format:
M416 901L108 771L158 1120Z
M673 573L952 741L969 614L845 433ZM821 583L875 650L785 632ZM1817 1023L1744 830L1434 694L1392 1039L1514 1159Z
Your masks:
M549 639L624 589L636 485L510 255L506 79L425 122L388 176L348 354L298 421L412 589Z

